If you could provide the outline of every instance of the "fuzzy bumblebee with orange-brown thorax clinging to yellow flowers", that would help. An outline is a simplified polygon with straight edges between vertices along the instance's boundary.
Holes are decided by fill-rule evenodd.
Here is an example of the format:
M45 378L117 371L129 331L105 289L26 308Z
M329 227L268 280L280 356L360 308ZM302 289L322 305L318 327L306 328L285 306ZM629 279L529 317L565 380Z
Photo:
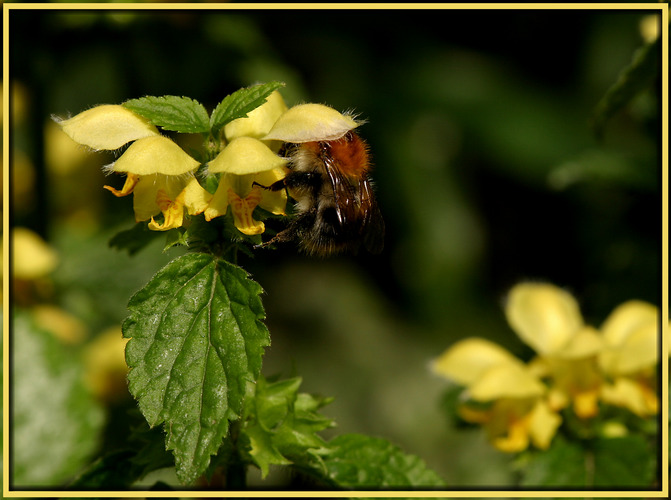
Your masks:
M289 241L309 254L356 253L363 246L373 254L384 246L384 220L372 183L366 143L353 131L331 141L285 144L290 172L267 186L287 189L296 201L296 217L261 246Z

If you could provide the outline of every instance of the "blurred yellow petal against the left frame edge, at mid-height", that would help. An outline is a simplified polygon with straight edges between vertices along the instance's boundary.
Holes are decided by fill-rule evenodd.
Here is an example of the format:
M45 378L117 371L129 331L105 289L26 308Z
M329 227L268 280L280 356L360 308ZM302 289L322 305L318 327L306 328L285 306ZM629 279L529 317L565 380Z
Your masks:
M30 280L46 276L56 268L56 252L40 235L24 227L12 229L12 276Z

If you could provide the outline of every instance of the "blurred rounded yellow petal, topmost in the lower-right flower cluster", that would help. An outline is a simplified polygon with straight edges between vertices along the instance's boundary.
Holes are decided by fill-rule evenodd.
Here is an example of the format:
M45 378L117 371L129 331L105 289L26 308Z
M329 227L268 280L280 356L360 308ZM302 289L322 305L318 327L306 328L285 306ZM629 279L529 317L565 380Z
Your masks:
M505 312L513 330L539 354L559 352L583 326L573 296L550 284L516 285Z

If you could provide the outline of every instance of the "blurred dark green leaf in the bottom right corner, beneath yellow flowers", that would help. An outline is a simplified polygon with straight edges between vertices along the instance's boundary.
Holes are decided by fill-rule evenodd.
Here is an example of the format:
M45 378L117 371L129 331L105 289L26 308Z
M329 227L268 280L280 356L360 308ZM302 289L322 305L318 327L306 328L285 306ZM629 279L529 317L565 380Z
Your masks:
M655 453L643 436L599 439L594 447L594 486L649 488L655 478L655 464Z

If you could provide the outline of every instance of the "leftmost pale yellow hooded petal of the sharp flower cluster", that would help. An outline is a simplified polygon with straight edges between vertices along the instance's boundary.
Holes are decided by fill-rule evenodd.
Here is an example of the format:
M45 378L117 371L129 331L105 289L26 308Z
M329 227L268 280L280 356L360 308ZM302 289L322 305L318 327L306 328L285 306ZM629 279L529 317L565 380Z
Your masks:
M130 141L159 135L149 120L114 104L96 106L58 124L75 142L93 149L118 149Z

